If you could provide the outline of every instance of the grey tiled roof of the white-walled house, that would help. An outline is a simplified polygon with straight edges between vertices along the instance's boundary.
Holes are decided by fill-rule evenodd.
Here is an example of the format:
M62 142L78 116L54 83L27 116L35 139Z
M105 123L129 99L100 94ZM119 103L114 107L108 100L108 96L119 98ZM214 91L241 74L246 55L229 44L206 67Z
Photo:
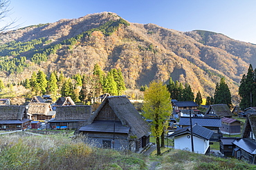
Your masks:
M205 127L201 127L200 125L194 125L192 127L193 130L193 135L197 136L199 138L204 138L206 140L209 140L210 137L212 136L212 134L214 133L213 131L211 131L210 129L207 129ZM190 134L191 129L190 127L185 127L183 129L179 129L174 131L173 134L171 134L169 137L175 137L175 136L181 136L184 134Z

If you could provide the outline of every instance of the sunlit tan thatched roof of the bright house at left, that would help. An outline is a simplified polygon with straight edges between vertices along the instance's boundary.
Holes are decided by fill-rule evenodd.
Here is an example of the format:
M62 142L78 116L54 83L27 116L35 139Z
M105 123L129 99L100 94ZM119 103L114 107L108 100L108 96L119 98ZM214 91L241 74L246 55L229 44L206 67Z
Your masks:
M28 114L52 116L52 111L50 103L29 103L28 105Z

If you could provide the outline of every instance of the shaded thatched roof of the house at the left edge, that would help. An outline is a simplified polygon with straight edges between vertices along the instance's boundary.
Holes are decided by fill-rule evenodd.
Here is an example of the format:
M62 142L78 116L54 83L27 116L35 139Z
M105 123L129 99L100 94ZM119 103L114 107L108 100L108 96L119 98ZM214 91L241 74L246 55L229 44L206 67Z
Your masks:
M25 106L0 105L0 120L21 120Z

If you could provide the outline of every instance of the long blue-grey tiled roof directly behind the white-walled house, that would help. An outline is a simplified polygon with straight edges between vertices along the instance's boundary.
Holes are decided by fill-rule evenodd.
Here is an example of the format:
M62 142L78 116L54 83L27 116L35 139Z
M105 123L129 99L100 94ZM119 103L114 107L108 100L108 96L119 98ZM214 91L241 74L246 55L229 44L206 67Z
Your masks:
M192 125L197 124L202 127L221 127L221 118L192 118ZM179 125L190 125L190 117L181 117Z

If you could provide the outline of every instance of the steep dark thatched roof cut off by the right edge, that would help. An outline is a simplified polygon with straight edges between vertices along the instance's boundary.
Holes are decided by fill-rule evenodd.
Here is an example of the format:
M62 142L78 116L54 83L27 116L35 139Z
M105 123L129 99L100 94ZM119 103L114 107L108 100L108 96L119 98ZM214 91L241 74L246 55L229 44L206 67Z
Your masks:
M247 114L242 138L248 138L250 136L250 131L256 136L256 114Z

